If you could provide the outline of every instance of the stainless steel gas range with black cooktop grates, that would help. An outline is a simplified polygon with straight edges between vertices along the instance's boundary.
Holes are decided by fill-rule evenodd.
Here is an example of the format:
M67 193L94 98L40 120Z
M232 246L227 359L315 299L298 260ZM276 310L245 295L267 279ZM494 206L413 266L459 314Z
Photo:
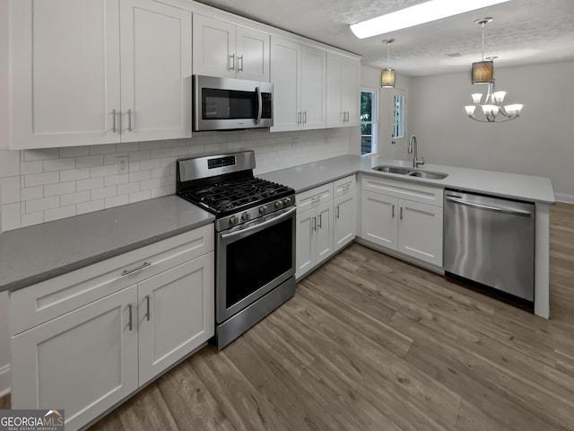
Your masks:
M255 154L178 159L177 194L215 215L215 345L295 293L295 191L253 176Z

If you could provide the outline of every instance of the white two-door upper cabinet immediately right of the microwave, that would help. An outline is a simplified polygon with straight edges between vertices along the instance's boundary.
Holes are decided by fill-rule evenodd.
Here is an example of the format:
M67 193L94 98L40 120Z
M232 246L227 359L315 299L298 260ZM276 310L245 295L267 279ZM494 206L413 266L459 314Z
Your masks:
M274 132L326 127L326 51L271 40Z

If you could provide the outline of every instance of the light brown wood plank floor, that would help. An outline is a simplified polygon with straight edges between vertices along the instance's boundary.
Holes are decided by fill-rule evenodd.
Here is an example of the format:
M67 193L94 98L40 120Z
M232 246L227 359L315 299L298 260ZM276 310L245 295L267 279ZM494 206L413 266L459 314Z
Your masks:
M104 430L574 430L574 206L551 210L545 321L352 244Z

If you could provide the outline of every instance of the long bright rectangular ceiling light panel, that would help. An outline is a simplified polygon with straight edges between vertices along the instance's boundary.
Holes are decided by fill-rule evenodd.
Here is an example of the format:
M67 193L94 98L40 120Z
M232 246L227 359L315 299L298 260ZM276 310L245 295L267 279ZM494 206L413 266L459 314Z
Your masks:
M465 0L463 2L461 0L431 0L430 2L416 4L367 21L357 22L356 24L351 24L350 27L357 38L365 39L509 1Z

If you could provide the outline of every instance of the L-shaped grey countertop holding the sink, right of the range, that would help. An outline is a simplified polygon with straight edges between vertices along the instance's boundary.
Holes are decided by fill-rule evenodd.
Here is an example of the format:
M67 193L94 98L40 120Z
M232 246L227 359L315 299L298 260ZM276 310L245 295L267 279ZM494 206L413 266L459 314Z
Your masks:
M441 189L460 189L540 204L551 205L555 203L552 182L543 177L481 171L439 164L422 165L419 168L420 170L448 173L448 177L443 180L431 180L397 173L378 172L372 169L372 167L381 164L411 167L409 162L386 159L384 157L342 155L316 163L307 163L280 171L267 172L258 176L265 180L289 186L295 189L297 193L361 172L393 180L418 182Z

